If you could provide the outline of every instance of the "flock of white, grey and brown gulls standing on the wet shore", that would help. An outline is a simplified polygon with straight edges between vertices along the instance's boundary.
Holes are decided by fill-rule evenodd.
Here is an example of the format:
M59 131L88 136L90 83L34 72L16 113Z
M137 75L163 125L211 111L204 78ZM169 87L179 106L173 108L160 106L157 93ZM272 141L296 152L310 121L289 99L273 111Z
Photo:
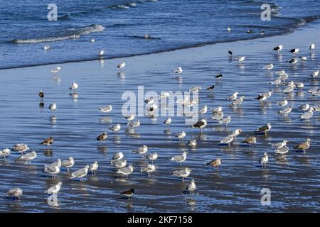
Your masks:
M50 48L50 47L46 46L45 49L46 48ZM272 50L276 52L280 52L283 50L283 48L284 47L282 45L279 45L273 48ZM314 51L315 48L316 46L314 44L311 44L309 49L310 51ZM290 52L292 52L292 55L294 55L294 57L291 60L288 60L287 62L289 62L289 64L294 65L298 61L296 55L297 53L299 53L299 48L294 48L290 50ZM228 51L228 54L230 55L230 57L233 57L233 52L231 52L230 50ZM100 57L103 57L104 51L100 50L98 55ZM306 60L306 57L304 56L299 56L299 58L302 61ZM238 61L241 64L241 62L245 61L245 56L233 57L233 60ZM125 67L125 65L126 65L125 62L121 62L119 63L119 65L117 65L117 67L121 70L123 67ZM274 65L270 63L265 65L263 69L270 71L273 69L273 67ZM52 72L53 74L57 74L60 70L61 70L60 67L56 67L50 70L50 72ZM183 70L181 67L178 67L176 70L173 70L172 72L174 74L181 74L183 73ZM304 88L304 84L302 82L294 82L294 81L288 82L287 79L289 78L289 75L286 72L284 72L284 70L279 70L274 73L277 75L277 79L270 82L270 84L274 86L285 86L285 88L283 89L284 94L293 92L294 89ZM316 70L310 74L311 78L316 78L318 76L319 76L319 70ZM216 79L221 79L222 77L223 77L222 74L218 74L215 76ZM70 85L70 90L72 91L76 91L78 88L79 86L76 82L72 82L72 84ZM213 89L215 89L214 85L208 87L206 90L212 91ZM193 93L197 93L200 91L201 91L201 87L199 86L192 87L189 90L189 92L193 92ZM317 87L313 87L309 89L308 93L311 94L312 96L320 96L320 90L318 90ZM43 101L45 97L45 93L43 91L40 91L38 93L38 96L40 97L41 101ZM170 96L169 92L162 92L159 95L159 99L168 99L169 96ZM269 99L270 96L272 96L271 91L258 94L256 99L257 101L264 102L267 99ZM240 96L239 92L234 92L233 94L230 94L230 96L226 97L225 101L229 101L233 106L241 106L243 101L245 101L245 96L243 95ZM193 106L195 102L196 101L191 100L189 96L185 96L183 99L176 101L177 104L181 104L183 106ZM147 111L149 113L148 116L152 116L152 113L156 111L156 109L158 109L158 106L155 104L154 97L150 97L149 99L146 99L145 103L147 106L146 107ZM290 112L294 108L293 106L286 107L288 105L288 101L286 99L284 99L283 101L278 101L277 105L284 107L284 109L279 111L279 114L284 114L284 115L290 114ZM57 104L55 103L50 104L48 108L50 109L50 111L55 112L57 110ZM302 120L309 121L309 118L313 116L314 112L320 111L320 106L311 106L311 104L303 104L299 106L299 110L302 111L300 118ZM109 114L110 112L112 112L112 105L102 106L98 109L98 111L102 112L103 114ZM200 116L203 116L204 114L207 114L208 111L211 111L211 118L214 121L217 121L222 125L225 125L225 128L227 128L228 123L230 123L231 121L231 116L225 116L223 114L222 106L208 108L208 106L205 105L203 106L203 108L198 109L198 114ZM129 114L127 116L124 116L124 118L126 118L128 121L127 126L131 128L137 128L141 125L139 120L135 121L136 116L134 114ZM171 123L172 123L172 118L168 117L164 121L164 126L170 127ZM206 128L206 126L208 126L207 120L205 118L201 118L196 123L194 123L191 126L191 128L197 128L200 131L200 133L202 133L203 128ZM122 126L118 123L118 124L115 124L114 126L110 126L109 130L112 131L114 134L117 134L119 133L121 128ZM257 143L257 136L256 136L257 134L266 136L267 133L271 130L272 130L272 125L270 123L267 123L265 126L261 126L260 128L257 128L257 131L254 132L255 135L248 136L247 138L245 138L245 140L241 141L241 143L246 143L247 145L249 145L250 148L252 148L252 146L255 145L255 143ZM242 133L241 128L235 129L235 131L230 132L230 134L225 136L225 138L222 138L220 140L220 144L225 144L230 146L231 143L233 143L237 139L240 133ZM176 133L174 136L178 140L183 141L183 139L186 138L186 132L181 131L179 133ZM107 138L108 138L107 132L103 132L101 135L97 136L97 140L102 141L102 143L103 141L107 140ZM50 148L50 146L53 145L53 143L54 143L53 137L48 137L41 142L41 145L46 145L48 146L48 148ZM284 155L286 155L289 152L287 143L289 143L288 140L279 141L278 143L272 143L271 148L274 149L274 154L279 155L281 158L284 158ZM306 152L306 150L309 149L310 144L311 144L310 138L306 138L305 142L297 144L296 146L294 146L294 149L302 150ZM196 147L197 141L194 139L188 140L187 145L189 147ZM28 150L29 150L28 145L26 145L25 143L17 143L11 149L4 148L3 150L0 150L0 158L6 159L6 157L8 157L11 154L11 151L14 151L21 154L21 156L18 157L18 160L31 163L31 161L36 159L37 153L34 150L31 152L28 152ZM141 167L140 172L146 173L147 177L150 177L151 174L153 174L156 171L156 165L154 165L154 162L159 158L159 155L157 153L148 153L148 151L149 151L148 146L142 145L141 147L134 149L132 152L136 153L137 155L140 155L140 158L142 159L145 158L149 160L149 164ZM171 157L169 160L171 162L177 162L179 165L181 165L181 163L186 161L187 157L188 157L188 153L183 152L181 155L175 155ZM266 168L267 163L269 161L268 154L264 153L264 155L258 161L260 162L262 169ZM134 167L132 165L127 165L128 162L126 159L124 159L124 153L122 152L115 153L110 160L110 164L114 166L114 169L117 172L117 174L122 175L126 178L128 178L128 176L131 175L132 172L134 172ZM207 163L207 165L210 165L210 167L213 167L215 171L218 171L218 167L220 167L221 164L222 164L222 160L220 158L211 160L210 162ZM58 159L56 162L44 165L43 172L50 175L52 178L55 178L57 175L59 175L61 169L65 168L66 171L69 173L70 179L78 178L80 182L82 182L83 178L88 175L88 172L91 172L91 175L96 175L96 172L99 168L98 162L95 161L91 165L85 165L85 167L82 167L79 170L70 172L70 169L74 167L74 165L75 165L75 159L73 157L69 157L68 160ZM171 172L171 174L173 176L180 177L184 182L184 179L189 177L189 175L191 175L191 172L192 170L186 167L183 170L175 170ZM61 186L62 186L62 182L58 182L58 184L55 184L49 189L47 189L46 193L56 195L60 192ZM186 190L190 193L191 196L193 196L193 192L196 191L196 188L197 188L196 181L194 179L191 179L191 182L189 182L188 185L186 186ZM7 192L7 197L12 197L18 201L20 200L20 197L22 196L22 194L23 194L23 189L16 187L16 188L10 189ZM127 196L128 199L130 199L130 197L134 194L134 189L129 189L125 192L122 192L121 194L123 196Z

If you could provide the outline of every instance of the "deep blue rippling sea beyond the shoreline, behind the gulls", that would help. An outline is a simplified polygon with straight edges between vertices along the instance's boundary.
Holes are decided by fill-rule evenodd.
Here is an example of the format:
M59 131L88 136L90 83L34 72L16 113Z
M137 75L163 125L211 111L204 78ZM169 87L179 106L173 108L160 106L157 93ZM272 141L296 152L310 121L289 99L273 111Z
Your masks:
M320 1L273 1L261 21L262 1L1 0L0 68L139 55L294 31L319 18ZM48 21L47 6L58 6ZM233 31L227 32L230 26ZM255 33L245 33L253 29ZM146 40L148 33L154 39ZM75 35L76 38L73 38ZM95 43L89 40L95 38ZM50 41L50 42L49 42ZM51 50L43 50L50 45Z

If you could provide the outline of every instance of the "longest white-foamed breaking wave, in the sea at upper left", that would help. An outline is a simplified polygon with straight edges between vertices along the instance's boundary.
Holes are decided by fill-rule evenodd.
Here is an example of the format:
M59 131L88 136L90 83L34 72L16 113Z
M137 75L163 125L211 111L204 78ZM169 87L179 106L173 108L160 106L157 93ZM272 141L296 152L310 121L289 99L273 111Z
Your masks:
M60 40L68 40L80 38L80 35L89 35L91 33L99 33L105 31L104 26L100 26L97 24L92 24L85 28L77 28L73 29L72 34L61 35L56 37L46 37L46 38L29 38L29 39L14 39L11 43L45 43L45 42L56 42Z

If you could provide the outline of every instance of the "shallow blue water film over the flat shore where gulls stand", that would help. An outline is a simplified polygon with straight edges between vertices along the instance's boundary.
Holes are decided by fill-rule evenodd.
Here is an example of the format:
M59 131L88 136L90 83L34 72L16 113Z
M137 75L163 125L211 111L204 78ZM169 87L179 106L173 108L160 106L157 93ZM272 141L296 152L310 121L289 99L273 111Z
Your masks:
M18 154L12 153L6 161L0 161L0 193L11 187L23 188L20 202L10 199L0 201L0 211L107 211L107 212L262 212L262 211L319 211L319 113L309 122L300 121L302 114L297 107L305 102L319 104L319 97L311 97L307 89L319 85L319 79L310 79L309 73L319 68L320 50L309 54L309 43L319 37L319 22L311 23L290 35L260 40L242 41L210 45L203 48L179 50L157 55L145 55L124 59L126 67L119 75L115 67L122 60L101 60L60 65L60 81L52 79L49 70L56 65L26 67L0 71L0 146L11 148L15 143L27 143L36 150L38 157L31 164L16 162ZM298 39L299 37L299 39ZM303 41L302 41L303 40ZM281 55L271 52L271 48L284 43ZM319 45L319 43L316 43ZM287 51L299 46L302 55L309 57L304 64L291 67L286 60L291 58ZM245 55L242 65L231 61L226 50L236 55ZM284 69L289 79L302 81L305 89L297 90L286 96L295 109L288 118L279 116L276 101L282 100L284 87L269 84L274 75L261 70L267 62L274 63L274 70ZM181 66L183 73L178 79L171 70ZM223 73L223 79L217 82L213 75ZM124 75L125 74L125 75ZM70 95L71 82L78 82L78 99ZM199 93L200 106L223 106L225 116L232 117L228 128L210 120L208 127L199 133L188 128L183 117L174 117L171 133L165 133L162 124L165 117L151 121L139 117L142 126L137 131L129 131L121 114L121 96L125 91L137 92L138 85L144 85L145 91L187 91L200 85L205 89L215 84L213 92L202 90ZM39 108L38 91L43 89L46 96L44 108ZM255 97L260 92L272 90L273 94L261 105ZM229 106L225 98L234 91L245 95L241 108ZM58 109L54 114L48 105L56 102ZM112 104L114 110L105 116L98 108ZM258 135L257 145L248 148L240 144L246 135L265 123L272 123L267 136ZM119 135L113 135L108 127L121 123ZM229 131L242 128L237 142L228 146L218 142ZM185 142L180 143L174 133L185 130ZM109 138L105 143L98 142L97 135L107 131ZM48 136L55 138L52 150L39 145ZM186 140L196 138L198 145L191 150ZM298 153L292 147L311 138L311 148ZM286 162L274 157L269 143L289 140L289 153ZM157 171L151 178L139 172L146 160L132 150L140 145L148 145L149 153L159 153L154 163ZM188 158L181 167L169 161L169 157L188 151ZM110 158L122 151L129 164L135 170L128 179L114 172ZM264 152L270 155L266 170L258 163ZM75 158L77 170L97 160L100 168L95 177L85 178L85 182L70 180L63 170L56 179L51 179L41 170L43 165L62 160L69 156ZM206 163L221 158L223 164L215 172ZM171 176L171 171L190 167L193 172L186 182ZM184 194L187 182L195 179L198 186L193 200ZM43 192L52 184L63 182L58 194L59 206L50 207ZM120 192L134 188L132 200L122 199ZM260 190L271 190L271 206L260 204Z

